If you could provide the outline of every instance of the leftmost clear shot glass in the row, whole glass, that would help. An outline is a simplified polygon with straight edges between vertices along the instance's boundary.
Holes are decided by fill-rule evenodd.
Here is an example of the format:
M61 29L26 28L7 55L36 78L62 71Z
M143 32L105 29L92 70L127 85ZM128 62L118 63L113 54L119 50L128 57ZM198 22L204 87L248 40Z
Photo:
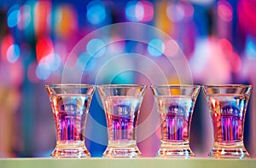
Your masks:
M87 158L85 122L96 89L90 84L45 85L55 119L56 146L51 157Z

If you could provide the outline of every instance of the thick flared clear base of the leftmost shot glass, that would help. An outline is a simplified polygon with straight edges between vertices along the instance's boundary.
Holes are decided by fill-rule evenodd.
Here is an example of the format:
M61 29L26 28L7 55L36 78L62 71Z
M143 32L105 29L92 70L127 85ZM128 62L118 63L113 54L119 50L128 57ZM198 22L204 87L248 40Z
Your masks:
M57 143L55 150L50 154L53 158L90 158L90 152L84 142Z

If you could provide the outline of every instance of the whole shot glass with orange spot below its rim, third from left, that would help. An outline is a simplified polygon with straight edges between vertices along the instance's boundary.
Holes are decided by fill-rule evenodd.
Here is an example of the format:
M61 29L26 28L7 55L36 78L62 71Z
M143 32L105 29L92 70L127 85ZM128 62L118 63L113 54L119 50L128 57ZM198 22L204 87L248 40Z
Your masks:
M152 85L154 102L160 114L159 158L190 158L189 131L195 101L201 86L192 84Z

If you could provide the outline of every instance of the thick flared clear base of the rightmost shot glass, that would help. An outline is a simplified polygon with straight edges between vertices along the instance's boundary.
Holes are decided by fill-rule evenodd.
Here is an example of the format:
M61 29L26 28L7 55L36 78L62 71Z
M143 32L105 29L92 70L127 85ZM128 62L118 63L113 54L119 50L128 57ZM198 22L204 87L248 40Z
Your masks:
M250 155L243 142L219 143L215 142L209 157L216 159L248 159Z

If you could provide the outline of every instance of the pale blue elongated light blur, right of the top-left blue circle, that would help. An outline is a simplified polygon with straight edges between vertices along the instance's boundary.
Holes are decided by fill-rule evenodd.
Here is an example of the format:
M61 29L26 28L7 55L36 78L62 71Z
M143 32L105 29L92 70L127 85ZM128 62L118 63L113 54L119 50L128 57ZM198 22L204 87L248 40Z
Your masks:
M23 5L20 7L20 20L18 21L18 28L20 30L26 29L32 20L31 6Z

